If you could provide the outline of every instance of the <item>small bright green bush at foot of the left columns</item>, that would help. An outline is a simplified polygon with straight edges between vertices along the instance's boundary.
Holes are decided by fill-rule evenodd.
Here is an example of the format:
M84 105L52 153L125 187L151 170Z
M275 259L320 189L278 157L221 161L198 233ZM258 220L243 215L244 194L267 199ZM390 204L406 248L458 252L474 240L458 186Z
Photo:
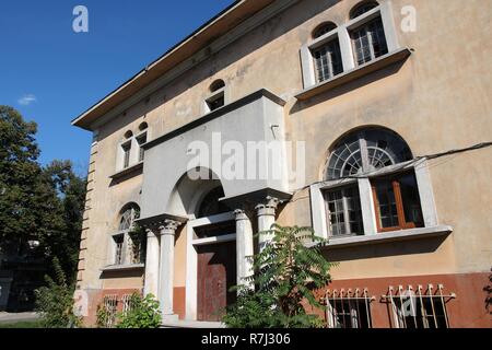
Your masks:
M142 298L134 293L130 298L130 310L119 313L117 318L117 328L159 328L162 322L159 301L152 294Z

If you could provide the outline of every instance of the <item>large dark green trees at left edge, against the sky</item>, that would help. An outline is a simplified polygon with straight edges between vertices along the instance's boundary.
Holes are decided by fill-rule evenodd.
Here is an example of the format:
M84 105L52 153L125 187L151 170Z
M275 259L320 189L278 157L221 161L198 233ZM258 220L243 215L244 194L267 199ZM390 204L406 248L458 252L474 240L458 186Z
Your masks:
M0 106L0 250L43 258L48 272L56 257L69 281L75 277L85 180L69 161L37 162L36 124ZM30 242L38 242L33 248Z

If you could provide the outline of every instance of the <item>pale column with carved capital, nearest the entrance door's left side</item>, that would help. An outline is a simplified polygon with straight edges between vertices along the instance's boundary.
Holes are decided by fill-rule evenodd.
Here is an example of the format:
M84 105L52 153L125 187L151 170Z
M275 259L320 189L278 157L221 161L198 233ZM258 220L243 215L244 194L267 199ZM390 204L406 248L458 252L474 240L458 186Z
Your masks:
M161 259L159 276L159 301L161 303L163 320L177 320L178 315L174 314L174 243L176 230L180 222L164 220L164 224L159 226L161 235Z

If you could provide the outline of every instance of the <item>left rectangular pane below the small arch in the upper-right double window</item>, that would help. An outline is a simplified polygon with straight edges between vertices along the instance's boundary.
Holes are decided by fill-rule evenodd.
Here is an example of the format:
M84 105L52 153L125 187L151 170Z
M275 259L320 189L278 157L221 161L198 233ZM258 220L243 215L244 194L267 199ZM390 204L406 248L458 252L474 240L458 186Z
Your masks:
M318 82L333 78L343 72L343 63L338 38L313 50Z

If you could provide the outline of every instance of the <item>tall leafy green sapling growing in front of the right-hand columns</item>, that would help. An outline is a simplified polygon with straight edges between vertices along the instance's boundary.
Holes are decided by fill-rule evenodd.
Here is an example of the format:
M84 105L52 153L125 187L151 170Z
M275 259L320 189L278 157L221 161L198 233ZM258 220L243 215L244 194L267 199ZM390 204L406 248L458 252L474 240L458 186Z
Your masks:
M247 281L255 288L237 287L237 301L227 307L223 322L233 328L323 327L321 319L307 314L303 304L325 307L315 291L330 282L333 264L320 252L326 241L311 228L273 225L259 234L272 235L272 241L254 257L256 273Z

